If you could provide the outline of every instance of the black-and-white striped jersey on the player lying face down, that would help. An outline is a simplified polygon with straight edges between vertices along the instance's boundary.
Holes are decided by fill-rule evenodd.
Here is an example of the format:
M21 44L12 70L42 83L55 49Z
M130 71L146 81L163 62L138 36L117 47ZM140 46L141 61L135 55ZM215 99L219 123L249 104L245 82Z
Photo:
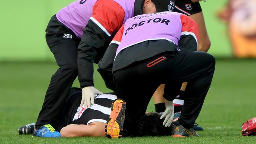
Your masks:
M106 123L111 112L111 104L117 96L113 94L95 95L95 102L91 107L85 109L77 107L77 111L73 116L72 124L89 124L91 122Z

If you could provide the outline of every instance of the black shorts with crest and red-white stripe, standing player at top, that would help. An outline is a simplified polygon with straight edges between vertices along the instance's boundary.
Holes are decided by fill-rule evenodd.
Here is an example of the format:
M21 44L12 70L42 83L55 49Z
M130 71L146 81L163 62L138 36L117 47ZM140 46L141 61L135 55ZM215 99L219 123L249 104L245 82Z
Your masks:
M193 15L202 11L199 2L191 2L191 0L175 0L174 12L183 13L185 15Z

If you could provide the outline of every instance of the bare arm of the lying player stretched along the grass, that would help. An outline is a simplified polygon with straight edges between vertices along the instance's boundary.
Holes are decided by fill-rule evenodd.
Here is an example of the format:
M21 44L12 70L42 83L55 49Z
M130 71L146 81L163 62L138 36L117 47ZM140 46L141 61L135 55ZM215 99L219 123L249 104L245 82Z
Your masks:
M61 129L61 137L104 137L105 123L95 122L94 125L70 124Z

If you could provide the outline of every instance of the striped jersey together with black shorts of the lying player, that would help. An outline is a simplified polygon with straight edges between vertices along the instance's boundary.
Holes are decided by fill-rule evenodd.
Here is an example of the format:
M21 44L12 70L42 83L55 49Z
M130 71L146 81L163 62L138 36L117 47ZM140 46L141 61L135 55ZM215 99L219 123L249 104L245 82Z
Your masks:
M82 89L71 88L67 97L60 122L56 130L60 131L62 127L69 124L89 124L90 122L104 122L109 118L111 104L117 98L115 92L99 94L95 96L95 102L92 107L85 109L79 108L82 99Z

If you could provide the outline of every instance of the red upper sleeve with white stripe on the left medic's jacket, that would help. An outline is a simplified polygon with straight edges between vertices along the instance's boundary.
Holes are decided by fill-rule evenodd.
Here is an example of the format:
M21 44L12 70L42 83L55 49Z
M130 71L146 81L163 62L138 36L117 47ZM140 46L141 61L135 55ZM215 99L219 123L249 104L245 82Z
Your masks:
M113 0L98 0L90 19L110 36L122 26L124 9Z

